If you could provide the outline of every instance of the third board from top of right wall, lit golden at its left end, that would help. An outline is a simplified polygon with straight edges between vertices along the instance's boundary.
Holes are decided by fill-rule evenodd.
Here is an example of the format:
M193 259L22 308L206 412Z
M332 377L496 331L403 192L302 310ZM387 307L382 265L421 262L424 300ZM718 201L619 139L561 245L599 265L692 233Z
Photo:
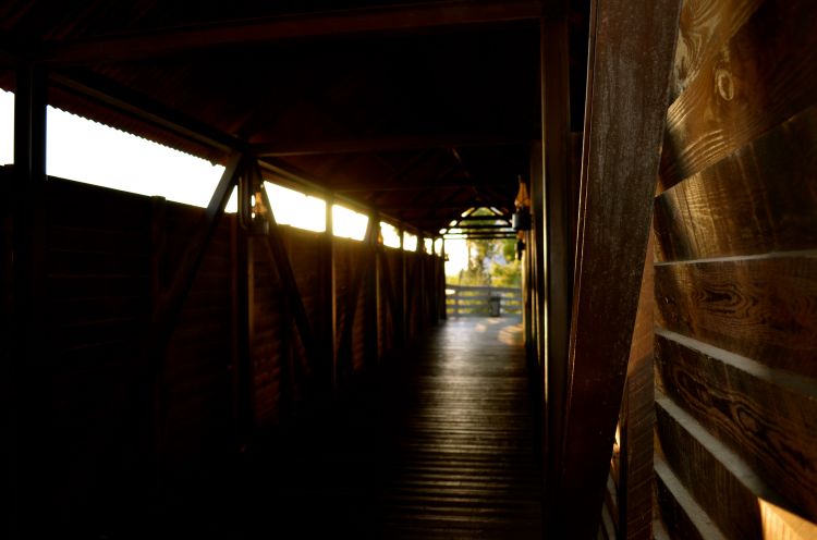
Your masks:
M817 246L817 107L656 198L659 261Z

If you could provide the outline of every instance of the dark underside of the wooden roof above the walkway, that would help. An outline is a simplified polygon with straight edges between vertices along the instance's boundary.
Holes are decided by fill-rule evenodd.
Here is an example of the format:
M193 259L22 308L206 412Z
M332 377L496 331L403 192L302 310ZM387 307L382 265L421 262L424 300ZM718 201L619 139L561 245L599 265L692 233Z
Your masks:
M2 48L52 70L52 105L212 161L256 154L364 204L382 186L429 205L403 219L511 207L538 137L540 2L125 3L17 7Z

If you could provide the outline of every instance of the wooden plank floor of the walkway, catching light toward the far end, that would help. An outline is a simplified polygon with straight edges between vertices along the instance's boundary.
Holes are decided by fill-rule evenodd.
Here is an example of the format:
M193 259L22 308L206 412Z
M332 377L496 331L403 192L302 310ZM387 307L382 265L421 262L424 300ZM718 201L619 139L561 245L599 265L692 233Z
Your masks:
M541 538L521 326L451 320L407 371L385 538Z

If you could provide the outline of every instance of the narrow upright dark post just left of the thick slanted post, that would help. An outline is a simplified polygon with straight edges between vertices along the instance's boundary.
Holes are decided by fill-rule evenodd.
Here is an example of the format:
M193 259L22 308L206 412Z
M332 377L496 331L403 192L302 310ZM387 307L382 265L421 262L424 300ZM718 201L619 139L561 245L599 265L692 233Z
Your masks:
M570 272L573 238L570 231L569 152L570 137L570 73L568 52L568 2L550 2L540 24L541 75L541 162L544 182L544 213L546 236L545 294L547 338L545 345L545 510L556 508L559 465L562 461L562 428L568 379L568 344L570 339L570 302L573 277ZM547 526L558 519L545 516ZM554 535L558 536L558 533Z

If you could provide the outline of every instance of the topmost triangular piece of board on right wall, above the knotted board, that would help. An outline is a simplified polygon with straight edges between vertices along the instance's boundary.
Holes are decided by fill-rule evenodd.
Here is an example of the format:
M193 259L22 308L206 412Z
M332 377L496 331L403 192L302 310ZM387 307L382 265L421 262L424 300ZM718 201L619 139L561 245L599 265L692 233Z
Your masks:
M763 0L686 0L681 9L670 102L695 81L700 69L748 20Z

